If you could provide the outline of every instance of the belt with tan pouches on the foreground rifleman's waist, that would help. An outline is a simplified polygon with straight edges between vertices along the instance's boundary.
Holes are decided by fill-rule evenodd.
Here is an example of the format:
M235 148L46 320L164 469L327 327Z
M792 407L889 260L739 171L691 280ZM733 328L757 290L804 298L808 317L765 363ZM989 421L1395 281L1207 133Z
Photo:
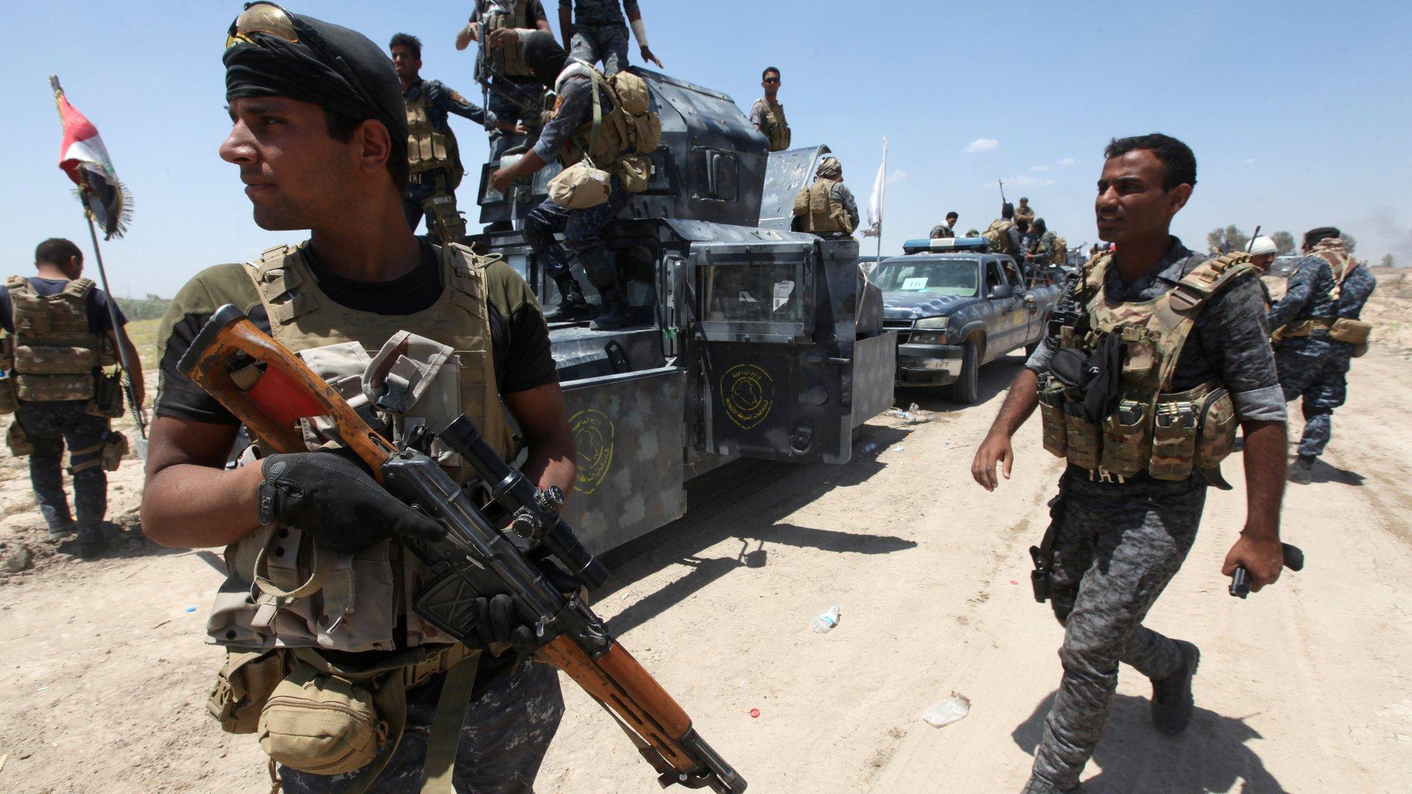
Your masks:
M450 773L480 650L422 646L374 664L336 661L316 648L236 650L216 678L206 711L230 733L257 733L274 764L312 774L363 769L346 794L364 791L397 750L407 692L446 674L426 750L424 791L450 791ZM371 762L383 753L381 764Z

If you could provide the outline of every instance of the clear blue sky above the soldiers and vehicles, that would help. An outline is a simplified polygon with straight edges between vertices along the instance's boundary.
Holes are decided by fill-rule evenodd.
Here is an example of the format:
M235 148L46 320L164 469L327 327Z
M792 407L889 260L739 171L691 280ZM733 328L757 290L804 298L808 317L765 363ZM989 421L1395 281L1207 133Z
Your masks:
M546 0L554 24L556 0ZM472 51L452 40L463 3L291 0L378 44L425 42L424 76L467 96ZM826 143L866 205L891 141L884 253L925 236L949 209L963 226L997 213L995 179L1028 195L1070 244L1091 242L1093 184L1113 136L1161 130L1196 151L1199 184L1175 232L1337 225L1357 254L1412 264L1412 55L1404 3L891 3L641 0L666 71L724 90L741 109L760 71L784 72L796 146ZM250 259L298 233L254 226L236 168L220 51L236 1L8 3L0 30L0 254L28 273L35 243L88 250L56 168L59 124L47 76L107 143L136 198L131 232L104 246L119 295L172 295L198 270ZM635 58L635 48L634 48ZM456 119L467 167L484 137ZM967 153L973 141L993 148ZM984 147L986 144L983 144ZM467 177L462 208L474 227ZM871 242L864 244L871 251Z

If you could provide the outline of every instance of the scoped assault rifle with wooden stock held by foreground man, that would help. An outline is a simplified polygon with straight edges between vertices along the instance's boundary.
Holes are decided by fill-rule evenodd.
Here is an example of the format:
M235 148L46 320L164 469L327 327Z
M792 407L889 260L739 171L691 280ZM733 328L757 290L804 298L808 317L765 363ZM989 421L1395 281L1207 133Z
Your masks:
M610 709L664 788L710 787L717 794L746 790L744 778L696 735L690 716L572 593L579 585L603 585L607 569L559 517L563 494L554 487L539 490L507 466L469 418L459 417L436 438L476 469L494 503L511 517L511 530L531 541L528 554L428 456L432 435L425 428L393 445L333 386L256 328L239 308L226 305L210 316L179 369L243 421L265 454L304 452L299 420L329 417L343 445L390 493L446 528L438 541L402 541L431 568L412 603L422 619L457 640L474 643L474 599L514 596L544 653ZM537 559L537 551L546 554ZM549 554L568 574L542 558Z

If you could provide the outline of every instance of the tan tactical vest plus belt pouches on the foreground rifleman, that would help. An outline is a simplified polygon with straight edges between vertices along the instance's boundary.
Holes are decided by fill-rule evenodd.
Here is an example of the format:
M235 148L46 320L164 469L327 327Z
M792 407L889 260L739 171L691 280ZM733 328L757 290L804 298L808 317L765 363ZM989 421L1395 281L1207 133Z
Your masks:
M514 441L496 387L487 263L463 246L438 249L441 297L409 315L354 311L332 301L302 249L270 249L246 271L268 312L271 336L345 397L359 389L364 365L381 359L370 355L400 349L390 339L407 339L408 350L439 343L438 372L449 373L457 391L450 398L442 394L443 401L470 417L510 459ZM388 370L388 381L398 372ZM412 413L421 410L417 403L405 417L394 417L393 435L415 427ZM316 429L305 428L311 448L322 441ZM455 455L438 458L457 482L474 476ZM227 547L226 569L206 623L209 641L227 648L208 711L229 732L258 733L271 770L274 762L316 774L361 769L349 791L363 791L391 750L383 764L370 762L401 737L408 688L445 672L438 712L465 708L480 650L453 643L409 608L425 571L397 541L333 552L275 524ZM309 733L311 725L322 726L318 736ZM439 781L435 790L449 791L460 721L436 725L443 730L433 729L426 774Z

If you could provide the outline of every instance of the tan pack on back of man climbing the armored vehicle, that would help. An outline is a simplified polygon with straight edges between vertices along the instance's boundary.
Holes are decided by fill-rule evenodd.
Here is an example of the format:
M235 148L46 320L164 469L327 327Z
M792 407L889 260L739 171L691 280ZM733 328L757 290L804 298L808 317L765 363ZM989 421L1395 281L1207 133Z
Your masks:
M583 160L587 153L596 168L611 171L618 158L635 153L634 168L651 170L651 164L638 155L651 154L662 138L662 119L651 110L650 90L647 82L633 72L618 72L611 78L603 76L589 64L575 61L555 81L555 92L559 99L555 102L551 119L559 114L563 106L563 83L576 75L589 78L593 92L593 113L590 119L579 124L569 140L565 141L559 153L559 162L565 167ZM602 89L602 93L600 93ZM603 107L603 95L607 95L610 107ZM626 177L626 174L620 174ZM645 188L645 182L641 188ZM635 192L635 191L628 191Z

